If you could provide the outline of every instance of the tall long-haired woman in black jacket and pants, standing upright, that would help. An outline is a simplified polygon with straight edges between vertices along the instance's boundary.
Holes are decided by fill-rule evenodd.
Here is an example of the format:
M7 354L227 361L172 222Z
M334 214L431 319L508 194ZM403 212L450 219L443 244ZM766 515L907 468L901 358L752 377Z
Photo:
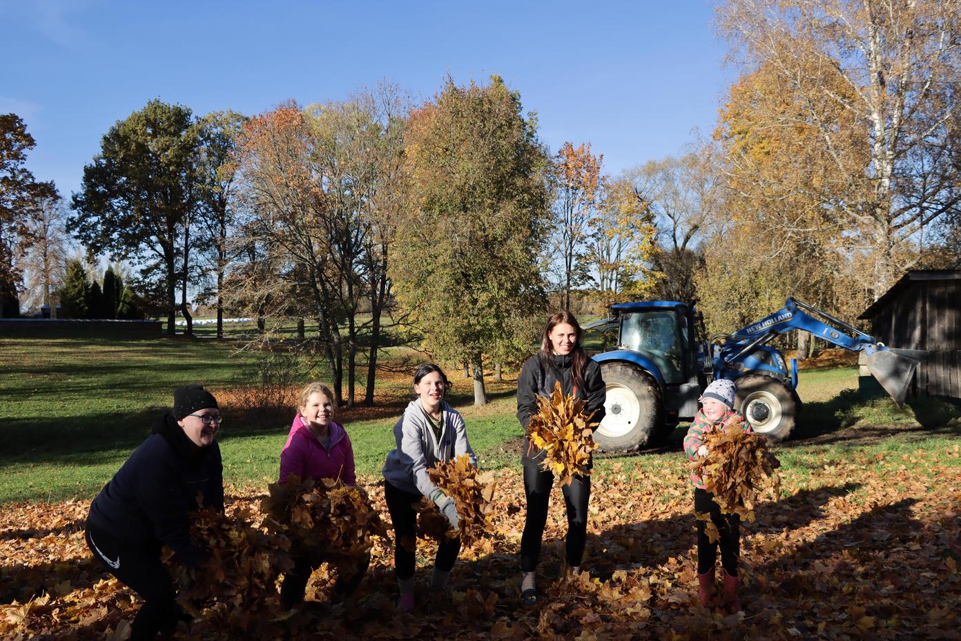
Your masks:
M528 429L530 417L537 413L537 397L548 397L554 392L554 382L560 382L564 394L573 394L586 401L587 413L595 411L594 421L604 418L604 380L601 366L587 357L583 348L583 330L578 319L569 311L558 311L547 321L538 354L525 361L517 379L517 419ZM527 519L521 538L521 601L536 604L539 598L535 584L541 540L547 524L548 503L554 473L541 469L545 452L525 438L524 491L528 499ZM588 465L592 465L590 462ZM574 572L580 569L587 540L587 503L591 495L591 478L578 474L574 481L561 488L567 506L567 565Z

